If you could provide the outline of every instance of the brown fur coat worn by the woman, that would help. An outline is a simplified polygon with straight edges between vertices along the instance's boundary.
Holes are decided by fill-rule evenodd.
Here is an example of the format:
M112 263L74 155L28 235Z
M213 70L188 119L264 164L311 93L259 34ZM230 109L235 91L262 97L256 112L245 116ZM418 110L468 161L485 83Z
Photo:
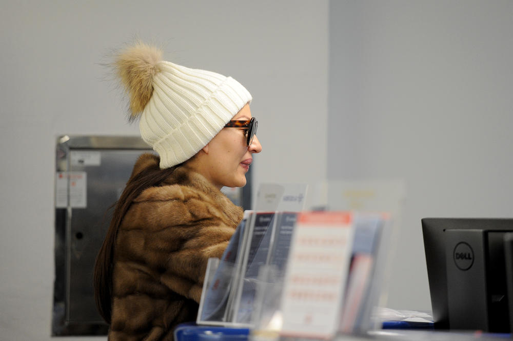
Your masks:
M132 174L158 157L142 155ZM221 257L242 208L186 166L137 197L117 234L109 340L172 340L195 320L207 260Z

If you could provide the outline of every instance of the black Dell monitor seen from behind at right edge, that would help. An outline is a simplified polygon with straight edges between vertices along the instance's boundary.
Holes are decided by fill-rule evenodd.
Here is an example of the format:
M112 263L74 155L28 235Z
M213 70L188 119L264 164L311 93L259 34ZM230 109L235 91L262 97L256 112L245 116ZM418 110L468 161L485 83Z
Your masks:
M509 332L507 232L513 219L422 219L435 328Z

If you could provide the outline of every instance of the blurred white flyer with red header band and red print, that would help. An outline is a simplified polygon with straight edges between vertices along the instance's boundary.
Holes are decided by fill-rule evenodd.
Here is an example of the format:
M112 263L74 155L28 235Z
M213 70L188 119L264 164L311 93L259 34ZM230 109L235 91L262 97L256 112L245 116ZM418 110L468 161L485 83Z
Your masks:
M282 335L332 338L338 329L351 259L349 212L302 212L285 275Z

